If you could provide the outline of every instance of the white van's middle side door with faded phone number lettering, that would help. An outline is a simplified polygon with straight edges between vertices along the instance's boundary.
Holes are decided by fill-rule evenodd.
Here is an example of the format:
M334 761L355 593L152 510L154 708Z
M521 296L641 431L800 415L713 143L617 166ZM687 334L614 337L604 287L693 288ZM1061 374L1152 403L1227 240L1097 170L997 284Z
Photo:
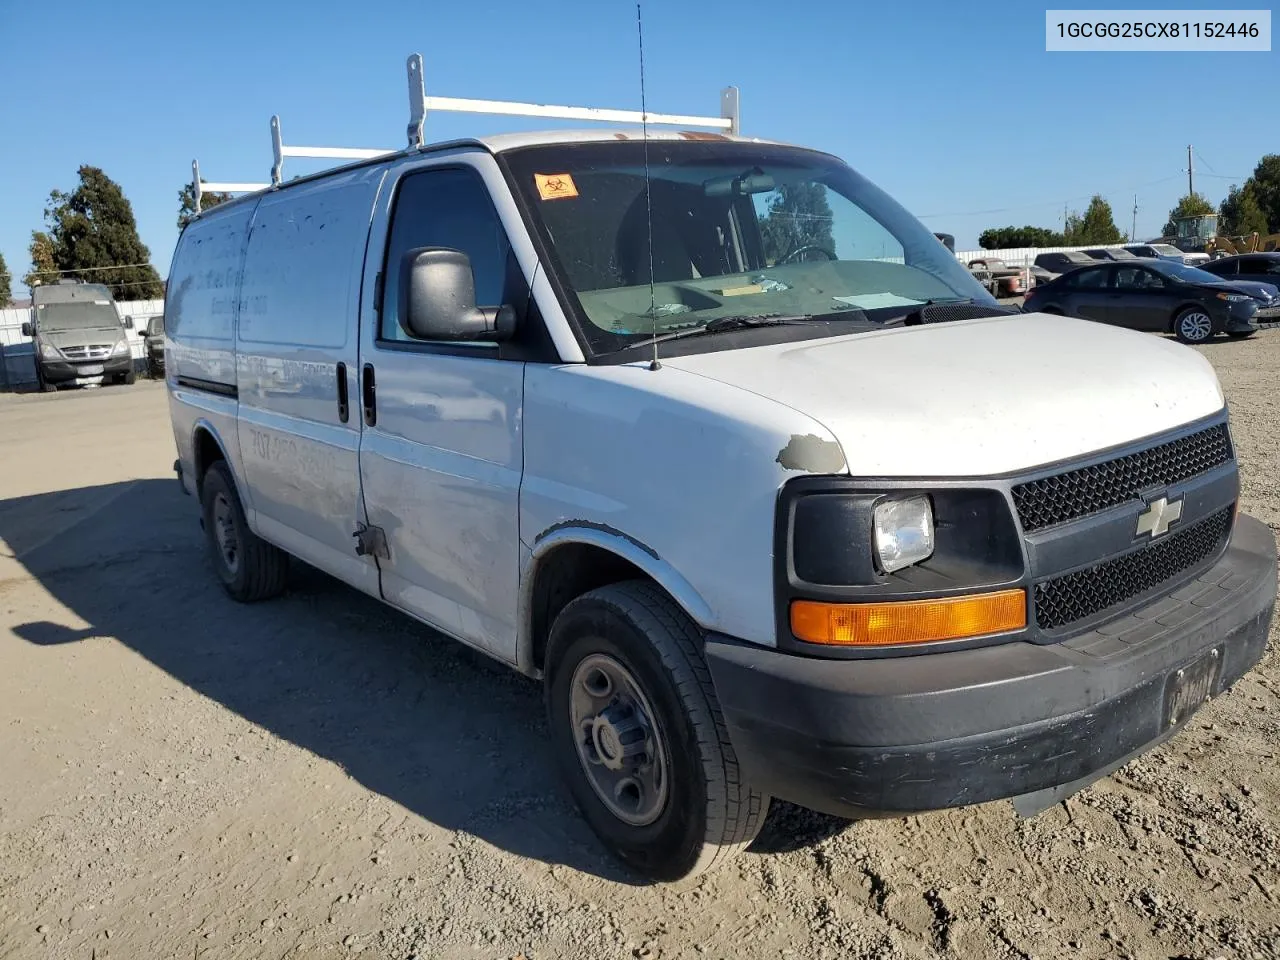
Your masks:
M255 531L375 595L378 568L356 556L352 534L362 517L361 268L384 172L351 170L259 202L244 256L236 371ZM339 416L339 370L347 422Z

